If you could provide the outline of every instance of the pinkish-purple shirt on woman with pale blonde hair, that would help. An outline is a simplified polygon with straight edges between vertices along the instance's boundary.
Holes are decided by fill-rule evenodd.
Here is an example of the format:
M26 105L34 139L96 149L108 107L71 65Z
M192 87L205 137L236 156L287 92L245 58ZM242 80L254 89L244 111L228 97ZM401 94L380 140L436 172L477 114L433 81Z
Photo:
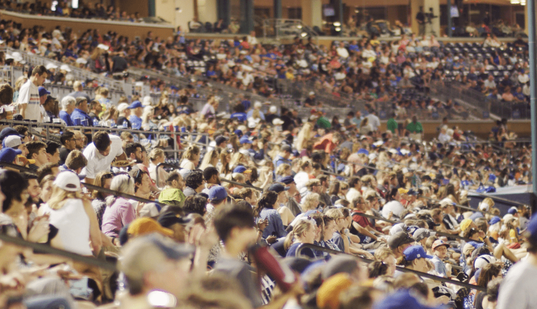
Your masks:
M106 236L118 237L121 229L135 218L135 210L129 200L123 197L115 199L114 203L106 207L103 214L101 230Z

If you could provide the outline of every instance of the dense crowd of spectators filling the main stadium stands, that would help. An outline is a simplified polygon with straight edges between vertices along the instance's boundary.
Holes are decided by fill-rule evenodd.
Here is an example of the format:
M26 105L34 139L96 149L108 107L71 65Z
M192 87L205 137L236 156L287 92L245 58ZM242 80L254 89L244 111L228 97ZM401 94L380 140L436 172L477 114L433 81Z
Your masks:
M527 82L524 43L491 55L496 67L474 68L434 38L324 50L300 40L129 41L2 24L1 60L24 72L0 85L2 307L537 306L537 218L516 202L500 211L488 195L532 181L532 145L509 141L507 120L489 141L467 142L449 117L424 141L418 118L405 113L465 112L426 97L446 70L504 65L505 83L474 75L488 80L485 93L509 96ZM51 62L32 62L42 57ZM135 81L158 102L139 93L111 100L92 75L120 73L128 83L122 73L136 67L191 78L199 74L187 67L191 57L209 82ZM282 94L274 81L286 79L332 89L332 100L365 100L365 110L347 106L326 120L326 102L310 89L295 108L250 100L272 102ZM217 95L202 94L211 83L235 89L223 113ZM53 97L59 84L72 92ZM383 102L400 122L387 131ZM310 113L299 116L299 106ZM475 192L477 209L468 200Z

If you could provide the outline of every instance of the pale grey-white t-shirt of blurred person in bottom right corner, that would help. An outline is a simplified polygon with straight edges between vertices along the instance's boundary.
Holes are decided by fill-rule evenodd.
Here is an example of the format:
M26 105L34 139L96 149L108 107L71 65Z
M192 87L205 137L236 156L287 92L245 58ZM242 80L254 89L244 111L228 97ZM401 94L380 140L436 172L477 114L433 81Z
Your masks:
M500 285L496 309L537 308L537 267L527 260L511 267Z

